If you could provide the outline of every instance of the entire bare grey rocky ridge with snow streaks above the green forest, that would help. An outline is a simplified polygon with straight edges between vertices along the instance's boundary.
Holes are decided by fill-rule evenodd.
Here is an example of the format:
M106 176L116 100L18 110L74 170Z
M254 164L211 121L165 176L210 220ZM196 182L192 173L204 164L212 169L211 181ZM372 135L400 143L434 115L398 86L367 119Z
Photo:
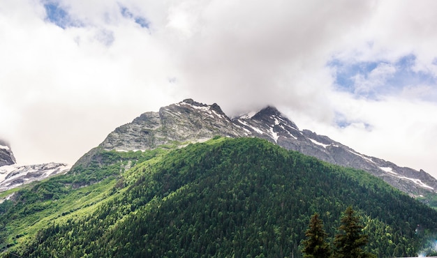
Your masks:
M216 104L205 105L188 99L161 107L159 112L142 114L111 132L99 147L118 151L146 150L163 144L201 142L215 135L267 139L332 164L363 169L410 195L437 192L437 180L426 172L399 167L358 153L329 137L299 130L274 107L230 119Z

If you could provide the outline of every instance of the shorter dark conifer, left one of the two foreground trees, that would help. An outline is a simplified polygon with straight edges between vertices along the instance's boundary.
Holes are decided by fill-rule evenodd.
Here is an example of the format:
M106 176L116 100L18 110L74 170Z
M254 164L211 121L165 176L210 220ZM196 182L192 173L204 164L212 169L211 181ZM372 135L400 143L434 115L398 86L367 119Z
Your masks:
M306 229L306 240L304 240L304 257L311 258L326 258L331 255L329 243L325 242L327 236L323 229L323 220L318 218L318 213L314 213L309 221L308 229Z

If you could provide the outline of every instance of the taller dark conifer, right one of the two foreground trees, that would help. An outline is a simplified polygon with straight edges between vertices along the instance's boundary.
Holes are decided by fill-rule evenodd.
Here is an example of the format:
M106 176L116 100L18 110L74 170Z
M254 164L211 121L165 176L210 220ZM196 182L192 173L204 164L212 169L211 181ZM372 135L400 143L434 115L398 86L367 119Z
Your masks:
M334 238L336 257L373 257L362 249L368 241L368 236L362 234L363 228L360 225L360 217L355 215L352 206L348 206L341 218L340 233Z

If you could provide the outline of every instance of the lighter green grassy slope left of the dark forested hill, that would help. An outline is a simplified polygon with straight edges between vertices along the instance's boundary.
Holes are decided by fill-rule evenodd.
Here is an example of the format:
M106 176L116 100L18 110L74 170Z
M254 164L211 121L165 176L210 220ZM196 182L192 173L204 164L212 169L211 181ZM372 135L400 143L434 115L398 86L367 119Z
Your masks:
M52 223L91 213L116 196L128 167L151 162L165 152L94 151L87 165L75 166L68 174L1 192L0 199L12 197L0 204L0 250L20 247ZM129 180L135 179L129 176Z

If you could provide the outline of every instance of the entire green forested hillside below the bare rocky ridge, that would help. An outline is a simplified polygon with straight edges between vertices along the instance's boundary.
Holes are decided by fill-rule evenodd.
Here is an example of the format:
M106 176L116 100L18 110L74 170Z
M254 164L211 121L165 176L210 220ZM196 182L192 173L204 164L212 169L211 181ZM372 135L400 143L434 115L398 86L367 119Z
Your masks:
M437 229L436 211L382 180L262 139L96 153L0 204L3 256L301 257L311 215L333 238L347 206L378 257L417 255Z

